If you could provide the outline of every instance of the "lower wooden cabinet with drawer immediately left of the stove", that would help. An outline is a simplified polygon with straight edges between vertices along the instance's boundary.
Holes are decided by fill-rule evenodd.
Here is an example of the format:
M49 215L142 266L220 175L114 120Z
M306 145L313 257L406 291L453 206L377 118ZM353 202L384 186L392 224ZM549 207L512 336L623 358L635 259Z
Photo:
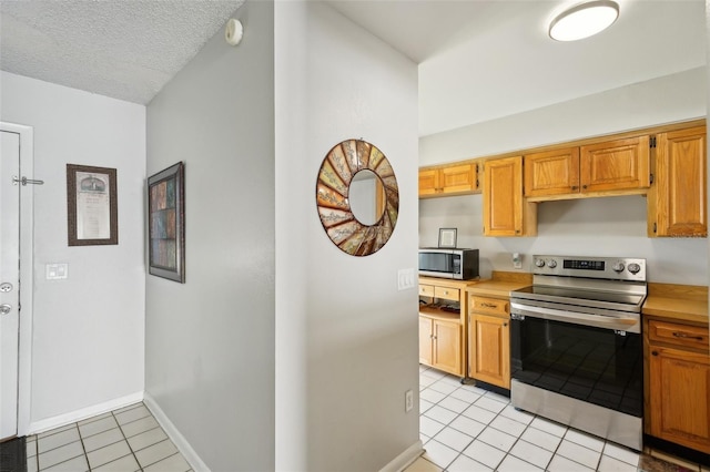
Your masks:
M510 389L509 301L470 296L468 377Z

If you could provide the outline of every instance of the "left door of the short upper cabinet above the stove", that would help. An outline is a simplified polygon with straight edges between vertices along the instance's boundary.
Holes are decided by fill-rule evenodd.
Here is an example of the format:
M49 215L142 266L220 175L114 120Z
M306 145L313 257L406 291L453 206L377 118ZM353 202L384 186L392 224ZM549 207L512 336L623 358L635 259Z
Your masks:
M579 147L527 154L525 196L579 193Z

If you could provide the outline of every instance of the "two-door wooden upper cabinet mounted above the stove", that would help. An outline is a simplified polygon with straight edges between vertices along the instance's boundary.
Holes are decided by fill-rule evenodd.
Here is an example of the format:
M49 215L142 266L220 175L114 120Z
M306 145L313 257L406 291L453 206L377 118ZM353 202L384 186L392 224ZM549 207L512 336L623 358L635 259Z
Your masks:
M525 196L544 201L646 192L649 165L648 135L526 154Z

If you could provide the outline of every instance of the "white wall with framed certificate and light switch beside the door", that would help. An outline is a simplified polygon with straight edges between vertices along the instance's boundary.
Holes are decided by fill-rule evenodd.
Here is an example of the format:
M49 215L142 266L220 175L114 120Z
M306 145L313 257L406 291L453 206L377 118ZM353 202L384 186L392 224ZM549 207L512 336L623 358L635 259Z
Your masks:
M34 129L30 430L143 391L145 107L1 73L1 119ZM65 165L118 170L118 246L67 244ZM69 265L65 280L44 266Z

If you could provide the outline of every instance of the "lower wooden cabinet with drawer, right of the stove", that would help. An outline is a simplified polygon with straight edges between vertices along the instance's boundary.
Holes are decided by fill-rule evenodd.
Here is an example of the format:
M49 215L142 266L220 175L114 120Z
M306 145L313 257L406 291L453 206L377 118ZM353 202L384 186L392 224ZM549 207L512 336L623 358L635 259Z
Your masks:
M710 453L708 327L647 320L646 433Z

